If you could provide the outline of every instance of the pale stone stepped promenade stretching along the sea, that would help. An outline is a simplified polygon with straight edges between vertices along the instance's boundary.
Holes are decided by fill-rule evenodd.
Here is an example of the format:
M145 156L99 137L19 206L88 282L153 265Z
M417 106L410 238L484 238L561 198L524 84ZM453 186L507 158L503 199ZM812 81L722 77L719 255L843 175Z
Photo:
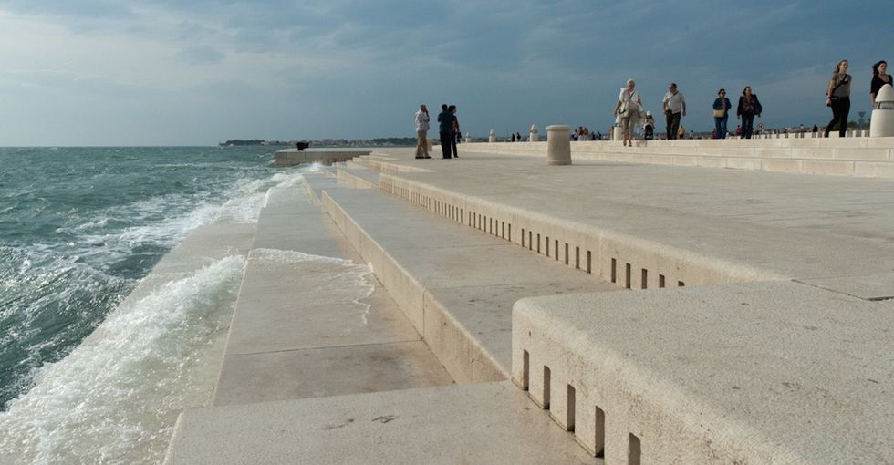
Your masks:
M885 140L846 176L592 160L621 152L608 142L572 143L571 165L544 143L461 144L308 176L319 205L275 192L291 219L262 215L254 247L369 263L387 291L370 311L391 323L257 298L307 269L263 278L253 248L216 406L182 414L168 462L894 463L894 179L856 168L889 163ZM801 167L849 150L803 141L717 142L758 159L773 142ZM296 211L326 234L302 238L317 229ZM366 356L365 338L414 346Z

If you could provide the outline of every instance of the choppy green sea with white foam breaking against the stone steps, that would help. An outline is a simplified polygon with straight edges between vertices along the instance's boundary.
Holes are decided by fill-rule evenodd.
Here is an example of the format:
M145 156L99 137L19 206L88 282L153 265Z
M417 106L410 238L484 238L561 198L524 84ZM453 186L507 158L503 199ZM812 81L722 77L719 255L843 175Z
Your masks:
M244 258L130 296L307 168L272 147L0 148L0 463L160 463L208 405ZM137 293L139 294L139 293Z

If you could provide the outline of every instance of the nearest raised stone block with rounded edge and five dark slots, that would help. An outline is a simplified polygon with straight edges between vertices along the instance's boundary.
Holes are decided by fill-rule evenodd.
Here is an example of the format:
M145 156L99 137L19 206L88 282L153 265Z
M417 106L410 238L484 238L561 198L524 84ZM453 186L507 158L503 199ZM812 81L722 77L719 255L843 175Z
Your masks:
M894 463L892 311L792 282L525 299L513 378L607 463Z

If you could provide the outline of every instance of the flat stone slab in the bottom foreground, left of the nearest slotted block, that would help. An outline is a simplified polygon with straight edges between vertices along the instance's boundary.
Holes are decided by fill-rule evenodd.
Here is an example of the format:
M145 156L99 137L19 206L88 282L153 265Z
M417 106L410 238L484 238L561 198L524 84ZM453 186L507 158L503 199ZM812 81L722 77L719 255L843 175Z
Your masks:
M187 410L168 465L600 464L510 382Z

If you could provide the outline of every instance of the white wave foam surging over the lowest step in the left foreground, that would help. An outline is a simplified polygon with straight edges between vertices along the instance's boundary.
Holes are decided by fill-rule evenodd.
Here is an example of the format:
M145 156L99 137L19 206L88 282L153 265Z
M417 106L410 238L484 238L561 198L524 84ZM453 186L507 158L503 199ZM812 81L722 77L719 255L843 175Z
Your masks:
M244 263L224 258L116 308L0 414L0 457L161 462L179 412L211 400Z

